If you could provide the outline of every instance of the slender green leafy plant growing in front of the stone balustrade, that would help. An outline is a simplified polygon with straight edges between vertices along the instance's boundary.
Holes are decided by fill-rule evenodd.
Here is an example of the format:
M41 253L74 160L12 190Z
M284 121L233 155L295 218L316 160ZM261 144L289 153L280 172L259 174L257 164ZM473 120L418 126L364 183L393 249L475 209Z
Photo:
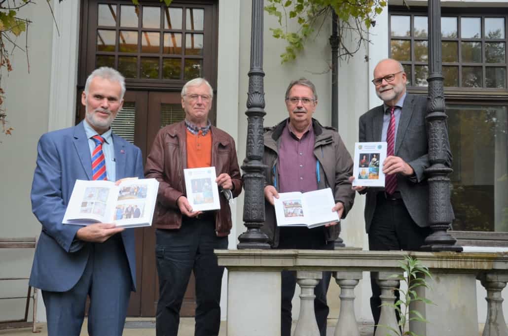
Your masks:
M400 294L400 298L394 304L383 304L382 306L388 306L394 308L399 316L399 330L396 330L390 326L384 326L388 328L391 332L391 336L397 335L410 335L410 336L418 336L416 333L405 330L406 322L408 321L418 321L423 323L429 323L427 319L423 317L423 315L417 310L409 310L409 306L411 303L416 301L423 302L427 305L434 305L434 303L425 298L420 297L417 294L417 288L425 287L430 289L428 282L425 278L432 279L432 275L429 271L429 268L423 265L420 260L415 259L411 256L404 257L404 260L399 260L400 268L404 270L404 275L394 274L391 278L399 280L401 282L405 282L407 285L407 290L403 290L400 288L395 288ZM402 306L404 308L402 309Z

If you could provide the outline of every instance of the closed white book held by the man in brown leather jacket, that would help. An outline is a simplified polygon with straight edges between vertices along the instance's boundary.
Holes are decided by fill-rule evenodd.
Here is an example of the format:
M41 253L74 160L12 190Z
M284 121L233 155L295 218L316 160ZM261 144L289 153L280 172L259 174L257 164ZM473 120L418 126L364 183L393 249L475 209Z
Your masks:
M187 200L193 211L220 209L215 167L184 169Z

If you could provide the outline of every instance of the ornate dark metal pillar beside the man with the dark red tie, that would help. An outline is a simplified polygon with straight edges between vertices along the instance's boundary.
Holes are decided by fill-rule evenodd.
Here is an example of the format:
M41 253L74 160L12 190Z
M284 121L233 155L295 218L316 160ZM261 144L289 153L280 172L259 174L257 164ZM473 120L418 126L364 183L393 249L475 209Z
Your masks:
M443 76L441 75L441 4L440 0L428 2L429 24L429 161L425 170L429 182L429 223L432 233L425 239L424 251L462 252L457 240L448 231L453 215L450 211L450 178L452 172L446 166L448 129L444 113Z

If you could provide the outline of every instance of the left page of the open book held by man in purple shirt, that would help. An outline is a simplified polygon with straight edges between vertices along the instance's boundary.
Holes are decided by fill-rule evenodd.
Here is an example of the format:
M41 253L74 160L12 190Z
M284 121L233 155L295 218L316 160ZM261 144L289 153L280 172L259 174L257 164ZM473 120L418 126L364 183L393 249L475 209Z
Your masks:
M273 203L277 226L306 226L301 192L279 192Z

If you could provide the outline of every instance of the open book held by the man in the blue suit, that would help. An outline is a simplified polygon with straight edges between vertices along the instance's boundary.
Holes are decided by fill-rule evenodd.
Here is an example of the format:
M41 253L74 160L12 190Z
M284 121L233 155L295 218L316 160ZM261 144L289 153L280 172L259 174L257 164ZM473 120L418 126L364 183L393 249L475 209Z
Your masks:
M155 179L128 179L118 186L111 181L76 180L63 223L150 226L157 190Z

